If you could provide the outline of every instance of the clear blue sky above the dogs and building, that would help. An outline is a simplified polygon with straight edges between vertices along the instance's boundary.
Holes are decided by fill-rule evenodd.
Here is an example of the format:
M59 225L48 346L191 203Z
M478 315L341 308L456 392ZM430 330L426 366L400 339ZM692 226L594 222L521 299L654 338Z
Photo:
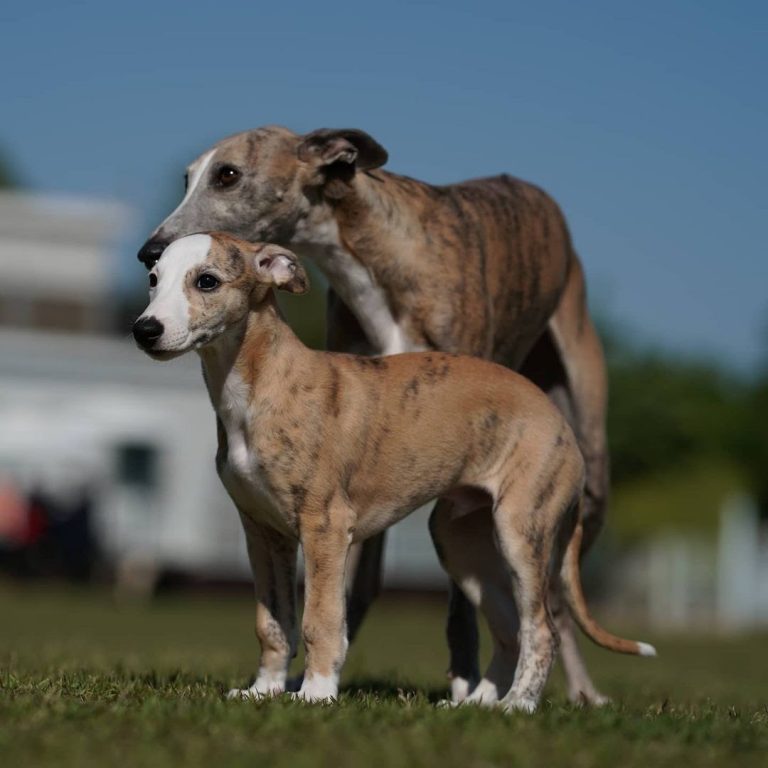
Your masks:
M544 186L640 339L768 346L768 3L5 0L0 64L29 186L137 210L123 279L209 143L358 127L411 176Z

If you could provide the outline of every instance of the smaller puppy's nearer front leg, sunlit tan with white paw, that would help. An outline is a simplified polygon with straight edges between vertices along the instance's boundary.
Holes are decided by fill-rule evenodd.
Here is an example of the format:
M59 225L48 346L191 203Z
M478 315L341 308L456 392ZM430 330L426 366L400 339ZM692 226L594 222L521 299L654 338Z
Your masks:
M352 538L352 515L332 505L301 524L304 550L304 682L297 696L305 701L335 699L347 654L344 572Z

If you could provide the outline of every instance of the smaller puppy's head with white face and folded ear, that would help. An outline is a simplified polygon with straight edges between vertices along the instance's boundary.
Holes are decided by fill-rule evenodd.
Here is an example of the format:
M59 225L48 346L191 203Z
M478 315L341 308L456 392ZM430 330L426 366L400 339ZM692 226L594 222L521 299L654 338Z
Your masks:
M286 248L222 232L182 237L149 273L149 306L133 324L134 338L158 360L200 349L241 322L273 288L309 288L304 268Z

